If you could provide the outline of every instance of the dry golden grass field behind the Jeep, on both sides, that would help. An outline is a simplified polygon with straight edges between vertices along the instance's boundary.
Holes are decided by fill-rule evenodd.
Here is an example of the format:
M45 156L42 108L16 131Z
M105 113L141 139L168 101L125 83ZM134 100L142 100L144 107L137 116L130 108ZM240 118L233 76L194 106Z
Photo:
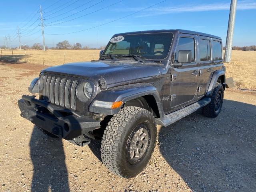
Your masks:
M100 50L47 50L44 65L98 60ZM43 64L42 51L14 50L14 61ZM12 51L2 51L4 60L12 61ZM238 88L256 89L256 52L232 51L232 62L225 64L226 77L233 77Z

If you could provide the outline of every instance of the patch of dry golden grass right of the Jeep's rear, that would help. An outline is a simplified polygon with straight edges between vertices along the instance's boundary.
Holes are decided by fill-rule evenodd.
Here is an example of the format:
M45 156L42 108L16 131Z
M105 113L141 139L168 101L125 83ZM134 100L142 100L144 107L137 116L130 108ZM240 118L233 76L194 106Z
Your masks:
M237 88L256 90L256 52L232 51L230 63L226 63L226 77L233 77Z

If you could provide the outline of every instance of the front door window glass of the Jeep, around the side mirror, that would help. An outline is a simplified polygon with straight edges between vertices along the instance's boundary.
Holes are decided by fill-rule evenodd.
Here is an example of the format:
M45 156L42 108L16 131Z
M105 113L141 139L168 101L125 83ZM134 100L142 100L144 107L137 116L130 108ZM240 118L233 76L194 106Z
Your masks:
M195 40L194 38L181 37L176 49L175 60L178 60L178 52L180 50L192 51L192 62L195 61Z

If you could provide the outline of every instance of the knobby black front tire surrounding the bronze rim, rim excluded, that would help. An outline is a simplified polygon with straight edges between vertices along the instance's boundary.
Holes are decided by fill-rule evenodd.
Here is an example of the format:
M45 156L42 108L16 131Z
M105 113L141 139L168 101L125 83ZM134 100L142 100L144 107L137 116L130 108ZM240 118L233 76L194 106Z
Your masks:
M144 156L136 164L130 163L127 146L136 127L144 124L150 134ZM101 158L104 165L114 174L132 178L148 164L156 143L156 122L151 112L140 107L124 107L108 122L101 142Z

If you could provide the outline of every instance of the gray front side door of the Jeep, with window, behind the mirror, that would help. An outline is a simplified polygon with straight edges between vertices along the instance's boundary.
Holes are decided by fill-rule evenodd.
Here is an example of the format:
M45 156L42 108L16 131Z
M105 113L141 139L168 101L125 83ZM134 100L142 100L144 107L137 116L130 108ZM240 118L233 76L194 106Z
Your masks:
M192 62L184 63L181 67L172 68L172 88L170 106L172 110L181 108L194 102L194 98L198 88L198 62L196 54L195 35L180 35L175 51L174 62L178 60L178 52L180 50L191 50Z

